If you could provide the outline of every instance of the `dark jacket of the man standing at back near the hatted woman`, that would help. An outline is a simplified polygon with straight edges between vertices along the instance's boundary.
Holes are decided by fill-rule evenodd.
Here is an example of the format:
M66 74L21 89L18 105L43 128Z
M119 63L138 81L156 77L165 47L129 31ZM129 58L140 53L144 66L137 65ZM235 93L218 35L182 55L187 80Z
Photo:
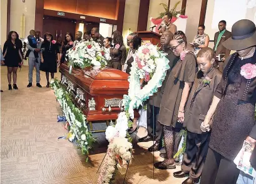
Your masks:
M217 32L215 33L215 36L214 36L214 46L213 46L213 50L215 48L215 45L217 43L217 39L218 39L218 34L220 34L220 32ZM231 33L229 31L225 31L225 33L223 34L222 38L220 39L220 42L218 43L218 46L217 46L217 50L216 50L216 55L218 54L225 54L225 58L227 58L230 54L230 50L226 49L222 43L224 41L226 41L228 38L231 37Z

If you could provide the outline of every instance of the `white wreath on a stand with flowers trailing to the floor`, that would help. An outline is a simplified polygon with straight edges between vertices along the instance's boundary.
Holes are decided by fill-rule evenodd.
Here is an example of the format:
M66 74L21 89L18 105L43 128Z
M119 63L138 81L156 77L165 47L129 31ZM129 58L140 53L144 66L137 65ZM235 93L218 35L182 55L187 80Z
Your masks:
M170 68L169 60L164 53L158 51L153 44L141 46L133 55L130 77L128 78L128 95L123 96L122 105L125 111L118 115L116 125L106 128L106 139L110 141L106 158L101 168L98 183L110 183L114 173L119 168L125 168L130 162L132 145L129 142L127 130L130 126L130 118L134 118L133 109L143 105L143 101L158 91L166 76L166 70ZM141 80L147 84L141 88Z

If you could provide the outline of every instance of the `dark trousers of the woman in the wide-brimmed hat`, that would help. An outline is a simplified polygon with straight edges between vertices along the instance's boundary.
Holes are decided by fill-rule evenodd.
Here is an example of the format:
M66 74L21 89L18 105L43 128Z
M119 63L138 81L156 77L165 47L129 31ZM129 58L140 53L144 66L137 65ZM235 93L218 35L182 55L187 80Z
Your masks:
M200 184L235 184L239 170L233 160L228 160L209 148Z

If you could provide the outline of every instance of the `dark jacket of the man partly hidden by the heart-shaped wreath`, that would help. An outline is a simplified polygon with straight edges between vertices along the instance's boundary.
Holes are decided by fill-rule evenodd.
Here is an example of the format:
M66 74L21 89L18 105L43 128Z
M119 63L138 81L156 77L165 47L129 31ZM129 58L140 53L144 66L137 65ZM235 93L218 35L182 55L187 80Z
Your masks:
M175 66L175 64L177 63L177 61L179 59L173 54L173 52L169 48L165 49L165 53L168 54L166 56L166 58L169 60L170 69L168 69L166 71L165 80L163 81L163 84L162 84L161 88L158 89L158 92L154 93L153 96L150 96L150 105L154 105L158 108L160 108L160 105L161 105L161 98L163 96L163 92L164 92L164 89L165 89L165 85L166 85L166 81L168 79L168 76L171 73L173 66Z

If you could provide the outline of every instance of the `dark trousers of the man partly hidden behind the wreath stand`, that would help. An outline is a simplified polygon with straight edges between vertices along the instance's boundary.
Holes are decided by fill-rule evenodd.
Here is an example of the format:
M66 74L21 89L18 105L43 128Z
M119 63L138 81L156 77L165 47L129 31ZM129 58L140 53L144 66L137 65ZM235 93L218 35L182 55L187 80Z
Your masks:
M148 103L146 110L146 118L147 118L147 124L148 124L148 135L153 136L153 126L155 129L155 141L160 141L163 137L163 125L157 121L158 114L160 111L160 108L154 106L154 116L153 116L153 105L150 105Z

